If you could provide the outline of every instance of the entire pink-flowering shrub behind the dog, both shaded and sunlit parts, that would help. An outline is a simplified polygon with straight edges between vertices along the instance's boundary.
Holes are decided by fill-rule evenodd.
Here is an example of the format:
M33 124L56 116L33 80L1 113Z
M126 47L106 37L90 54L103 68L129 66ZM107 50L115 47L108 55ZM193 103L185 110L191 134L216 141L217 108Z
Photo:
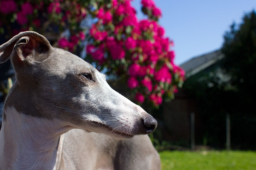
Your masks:
M173 98L184 71L175 65L173 41L158 24L161 10L142 0L148 19L138 20L130 0L1 0L0 34L33 30L55 36L53 46L71 52L85 49L85 60L126 82L134 99L162 103ZM90 20L89 27L81 23ZM14 27L11 27L14 26ZM68 35L65 34L68 31ZM7 34L8 32L8 34ZM84 43L86 42L86 43Z

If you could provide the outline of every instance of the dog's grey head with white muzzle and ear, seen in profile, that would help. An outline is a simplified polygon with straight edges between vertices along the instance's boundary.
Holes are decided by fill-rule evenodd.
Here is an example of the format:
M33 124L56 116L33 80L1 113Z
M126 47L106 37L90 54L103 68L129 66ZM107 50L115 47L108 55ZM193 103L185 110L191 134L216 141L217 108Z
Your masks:
M16 83L6 105L23 114L57 118L74 128L119 138L149 134L157 126L144 109L114 91L91 64L53 48L36 32L19 33L1 45L0 63L9 58Z

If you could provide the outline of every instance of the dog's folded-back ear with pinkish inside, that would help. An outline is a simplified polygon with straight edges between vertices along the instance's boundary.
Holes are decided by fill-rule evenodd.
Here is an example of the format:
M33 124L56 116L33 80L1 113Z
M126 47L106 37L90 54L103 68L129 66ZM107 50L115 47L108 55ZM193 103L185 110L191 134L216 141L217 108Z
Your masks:
M7 61L10 57L13 64L25 61L27 57L30 58L29 60L43 61L48 55L32 55L32 53L47 53L51 48L44 36L33 31L21 32L0 46L0 63Z

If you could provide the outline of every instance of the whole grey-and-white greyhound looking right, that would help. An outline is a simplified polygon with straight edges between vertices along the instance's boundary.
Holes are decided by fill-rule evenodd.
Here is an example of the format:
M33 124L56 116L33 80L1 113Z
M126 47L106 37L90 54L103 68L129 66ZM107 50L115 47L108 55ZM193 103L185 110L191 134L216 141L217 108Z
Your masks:
M27 31L0 46L16 82L6 98L0 169L161 169L157 121L81 58Z

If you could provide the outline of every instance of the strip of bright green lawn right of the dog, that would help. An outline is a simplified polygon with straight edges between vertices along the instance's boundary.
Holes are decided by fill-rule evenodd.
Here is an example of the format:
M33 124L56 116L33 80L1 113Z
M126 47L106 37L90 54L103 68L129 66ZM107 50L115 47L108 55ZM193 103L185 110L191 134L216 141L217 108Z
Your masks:
M252 151L163 151L162 170L256 170Z

